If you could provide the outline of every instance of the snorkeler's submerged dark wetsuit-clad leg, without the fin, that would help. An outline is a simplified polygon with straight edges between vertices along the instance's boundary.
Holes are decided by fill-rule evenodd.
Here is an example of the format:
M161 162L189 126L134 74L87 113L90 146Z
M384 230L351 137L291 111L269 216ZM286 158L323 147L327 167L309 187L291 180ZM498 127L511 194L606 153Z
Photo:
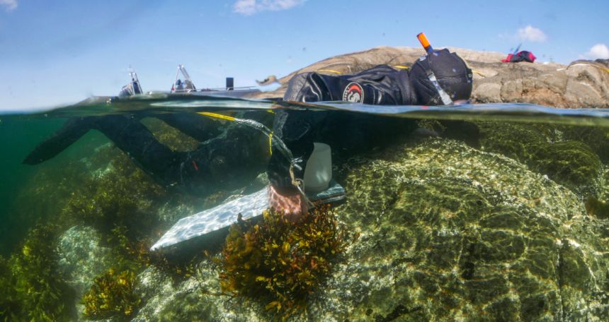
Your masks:
M220 136L188 152L175 152L162 145L131 117L104 117L96 122L95 129L156 179L200 195L256 178L268 160L268 140L240 124L231 124Z

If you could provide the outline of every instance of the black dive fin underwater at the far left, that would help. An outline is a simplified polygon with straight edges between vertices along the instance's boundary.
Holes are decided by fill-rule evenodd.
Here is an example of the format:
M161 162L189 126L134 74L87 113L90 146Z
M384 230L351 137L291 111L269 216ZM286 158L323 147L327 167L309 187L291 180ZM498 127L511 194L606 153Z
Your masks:
M23 160L25 165L38 165L58 155L72 143L78 141L91 130L91 120L88 117L72 117L61 129L34 148Z

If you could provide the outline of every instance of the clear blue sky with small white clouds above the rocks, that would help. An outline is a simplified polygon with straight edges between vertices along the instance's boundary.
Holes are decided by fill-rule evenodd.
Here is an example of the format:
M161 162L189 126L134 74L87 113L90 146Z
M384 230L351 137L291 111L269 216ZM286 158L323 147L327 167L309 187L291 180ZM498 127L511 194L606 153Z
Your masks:
M381 45L609 58L609 1L0 0L0 111L117 95L133 66L169 90L178 64L198 88L255 85Z

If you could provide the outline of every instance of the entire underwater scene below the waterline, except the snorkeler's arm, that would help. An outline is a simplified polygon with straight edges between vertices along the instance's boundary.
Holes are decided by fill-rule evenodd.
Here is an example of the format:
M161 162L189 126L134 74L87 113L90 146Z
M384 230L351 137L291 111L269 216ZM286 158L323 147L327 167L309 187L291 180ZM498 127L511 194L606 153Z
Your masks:
M282 114L331 147L297 218ZM1 321L609 321L609 109L143 95L0 141Z

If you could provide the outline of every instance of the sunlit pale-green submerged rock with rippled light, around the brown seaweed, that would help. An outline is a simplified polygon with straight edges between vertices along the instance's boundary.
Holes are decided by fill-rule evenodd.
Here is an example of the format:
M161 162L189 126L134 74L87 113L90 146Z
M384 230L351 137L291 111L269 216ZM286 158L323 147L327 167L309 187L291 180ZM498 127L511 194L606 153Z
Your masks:
M355 241L293 321L604 321L609 222L496 153L443 138L343 165L338 219ZM175 282L140 275L134 321L268 321L265 303L220 294L205 260Z

